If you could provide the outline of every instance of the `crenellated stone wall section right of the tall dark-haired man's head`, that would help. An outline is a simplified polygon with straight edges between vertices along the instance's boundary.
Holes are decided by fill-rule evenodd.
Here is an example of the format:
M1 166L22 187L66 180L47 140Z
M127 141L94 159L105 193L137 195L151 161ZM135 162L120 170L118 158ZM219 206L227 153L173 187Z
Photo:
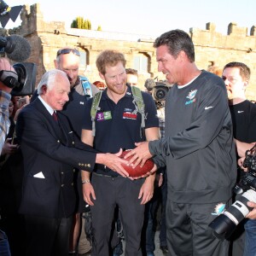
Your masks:
M227 35L216 32L215 25L207 23L206 30L191 28L190 36L195 44L195 62L206 68L208 61L214 61L223 68L230 61L240 61L251 69L251 79L247 97L256 99L256 30L252 27L247 35L247 27L230 23Z

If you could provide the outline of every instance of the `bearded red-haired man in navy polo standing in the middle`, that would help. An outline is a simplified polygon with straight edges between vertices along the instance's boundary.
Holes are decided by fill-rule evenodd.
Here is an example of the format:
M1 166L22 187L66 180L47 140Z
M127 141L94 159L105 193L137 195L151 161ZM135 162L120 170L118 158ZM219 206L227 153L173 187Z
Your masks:
M143 115L134 104L131 86L126 84L125 56L114 50L105 50L98 55L96 66L107 89L102 91L95 128L92 134L90 108L84 115L82 141L94 145L100 152L114 152L115 148L131 149L137 141L155 140L159 137L159 121L152 96L142 92L145 105L145 128L142 131ZM88 106L93 104L92 100ZM154 170L155 171L155 170ZM109 255L113 212L119 207L125 234L125 255L142 255L140 248L143 228L144 205L154 192L154 175L137 180L121 177L110 168L97 165L91 175L83 172L84 201L90 205L92 214L93 244L91 255ZM132 221L131 221L132 219Z

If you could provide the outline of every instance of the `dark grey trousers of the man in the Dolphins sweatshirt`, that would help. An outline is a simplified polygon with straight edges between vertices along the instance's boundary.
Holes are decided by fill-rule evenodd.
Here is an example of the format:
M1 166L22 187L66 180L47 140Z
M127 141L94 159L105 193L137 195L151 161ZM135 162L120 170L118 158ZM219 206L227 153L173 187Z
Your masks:
M230 242L219 241L208 227L217 217L212 215L217 204L177 204L167 200L166 235L170 255L228 255ZM230 201L226 207L229 205Z

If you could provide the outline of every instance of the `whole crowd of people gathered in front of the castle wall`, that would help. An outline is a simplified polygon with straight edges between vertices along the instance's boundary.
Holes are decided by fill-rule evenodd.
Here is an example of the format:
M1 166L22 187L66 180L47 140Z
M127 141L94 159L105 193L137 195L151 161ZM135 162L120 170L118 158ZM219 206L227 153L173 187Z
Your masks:
M1 256L154 256L159 205L165 255L256 255L256 201L245 203L250 211L228 239L209 227L240 200L233 189L256 143L250 68L199 69L181 30L160 35L154 48L173 85L159 105L149 79L143 111L132 90L137 70L117 50L97 56L99 80L90 83L79 76L79 50L59 49L31 99L11 96L0 77ZM0 70L16 78L5 58ZM125 149L131 160L119 158ZM129 177L124 165L149 158L152 170Z

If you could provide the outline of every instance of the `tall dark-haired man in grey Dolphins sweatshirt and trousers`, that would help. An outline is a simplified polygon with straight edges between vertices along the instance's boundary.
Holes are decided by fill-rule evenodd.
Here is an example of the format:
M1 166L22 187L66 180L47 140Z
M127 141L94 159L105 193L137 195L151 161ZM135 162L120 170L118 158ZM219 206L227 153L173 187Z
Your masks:
M189 34L156 38L158 70L174 84L166 96L165 137L131 151L137 163L154 155L166 165L166 235L170 255L228 255L208 225L231 203L236 155L224 81L195 65Z

